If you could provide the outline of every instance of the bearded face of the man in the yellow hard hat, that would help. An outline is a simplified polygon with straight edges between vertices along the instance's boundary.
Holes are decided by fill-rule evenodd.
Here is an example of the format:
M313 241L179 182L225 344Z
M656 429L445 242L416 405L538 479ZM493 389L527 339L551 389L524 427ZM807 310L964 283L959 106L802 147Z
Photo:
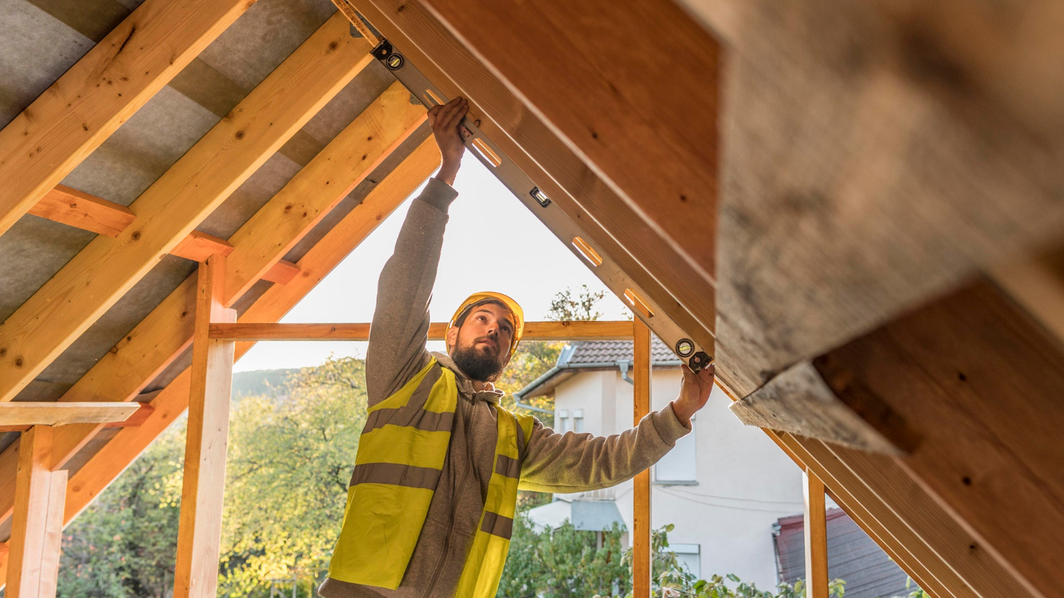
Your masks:
M514 325L510 310L494 303L472 308L459 328L448 330L454 363L470 378L493 381L510 361Z

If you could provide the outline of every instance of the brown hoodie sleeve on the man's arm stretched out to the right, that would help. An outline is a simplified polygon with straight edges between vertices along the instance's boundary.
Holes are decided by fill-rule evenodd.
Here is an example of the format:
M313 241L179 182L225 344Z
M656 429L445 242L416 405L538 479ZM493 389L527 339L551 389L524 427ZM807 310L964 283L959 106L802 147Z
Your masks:
M536 420L521 463L521 490L587 492L630 480L691 431L672 404L619 434L558 433Z

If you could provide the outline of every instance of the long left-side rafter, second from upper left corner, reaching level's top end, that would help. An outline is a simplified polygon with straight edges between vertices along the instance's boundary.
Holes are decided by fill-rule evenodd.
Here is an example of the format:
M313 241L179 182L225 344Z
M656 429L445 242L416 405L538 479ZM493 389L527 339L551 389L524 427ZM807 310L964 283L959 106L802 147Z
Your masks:
M0 324L11 400L371 59L336 15L133 202L133 225L98 236ZM283 98L281 102L279 99Z

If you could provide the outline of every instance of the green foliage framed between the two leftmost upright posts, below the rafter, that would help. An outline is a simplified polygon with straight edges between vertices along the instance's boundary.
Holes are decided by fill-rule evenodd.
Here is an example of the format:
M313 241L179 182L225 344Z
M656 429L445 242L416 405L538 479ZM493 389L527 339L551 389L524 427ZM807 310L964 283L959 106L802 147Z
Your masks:
M165 431L63 533L59 596L167 596L173 587L183 426Z

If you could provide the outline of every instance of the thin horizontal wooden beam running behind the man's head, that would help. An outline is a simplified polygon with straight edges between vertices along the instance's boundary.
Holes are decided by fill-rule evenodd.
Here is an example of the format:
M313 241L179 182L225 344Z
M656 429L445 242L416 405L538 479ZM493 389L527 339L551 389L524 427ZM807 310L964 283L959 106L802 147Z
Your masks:
M446 322L429 325L429 340L442 341ZM212 339L234 341L368 341L369 324L212 324ZM526 322L522 340L627 340L631 322Z

